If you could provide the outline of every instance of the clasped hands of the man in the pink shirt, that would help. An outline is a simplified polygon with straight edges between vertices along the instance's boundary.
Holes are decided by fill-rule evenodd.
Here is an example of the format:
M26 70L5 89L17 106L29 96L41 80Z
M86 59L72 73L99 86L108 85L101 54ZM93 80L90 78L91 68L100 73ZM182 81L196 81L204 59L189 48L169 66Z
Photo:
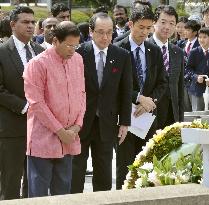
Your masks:
M66 129L62 128L57 131L57 135L61 142L70 144L79 139L78 132L80 131L79 125L72 125Z

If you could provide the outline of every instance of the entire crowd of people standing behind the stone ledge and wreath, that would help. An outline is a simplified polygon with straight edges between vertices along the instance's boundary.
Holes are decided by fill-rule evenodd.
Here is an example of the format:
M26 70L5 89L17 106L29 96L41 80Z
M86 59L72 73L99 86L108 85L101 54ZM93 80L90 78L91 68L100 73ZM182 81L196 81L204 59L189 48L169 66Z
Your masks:
M93 191L116 188L157 129L204 110L209 7L202 20L134 0L75 25L56 3L35 22L18 6L0 19L0 200L82 193L89 149ZM147 137L128 132L153 112ZM22 181L22 184L21 184Z

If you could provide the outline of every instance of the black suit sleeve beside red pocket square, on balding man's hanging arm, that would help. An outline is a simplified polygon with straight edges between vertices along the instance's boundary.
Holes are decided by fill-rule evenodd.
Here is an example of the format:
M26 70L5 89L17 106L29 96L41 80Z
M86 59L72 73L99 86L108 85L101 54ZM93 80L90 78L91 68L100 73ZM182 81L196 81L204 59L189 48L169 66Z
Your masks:
M131 124L131 107L132 107L132 66L130 54L125 53L125 63L123 73L120 81L120 110L119 110L119 124L129 126Z

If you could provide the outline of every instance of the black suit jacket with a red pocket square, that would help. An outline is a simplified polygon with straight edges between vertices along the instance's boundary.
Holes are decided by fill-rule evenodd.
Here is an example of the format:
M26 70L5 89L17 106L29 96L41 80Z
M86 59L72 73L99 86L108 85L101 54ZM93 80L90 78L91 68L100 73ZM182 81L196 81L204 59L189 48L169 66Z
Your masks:
M118 134L118 116L120 125L128 126L131 122L132 70L129 53L109 45L99 88L92 42L82 44L77 52L84 61L87 106L80 138L88 136L98 108L101 139L113 141Z

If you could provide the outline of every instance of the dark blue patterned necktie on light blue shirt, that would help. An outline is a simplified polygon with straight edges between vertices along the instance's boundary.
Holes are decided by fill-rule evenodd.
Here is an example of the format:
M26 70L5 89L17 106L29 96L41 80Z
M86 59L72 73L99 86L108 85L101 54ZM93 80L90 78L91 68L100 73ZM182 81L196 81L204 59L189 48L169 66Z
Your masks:
M137 47L136 48L135 63L136 63L136 73L137 73L137 78L138 78L138 82L139 82L139 87L140 87L140 90L142 90L143 85L144 85L144 81L143 81L142 62L140 59L139 50L141 50L141 48Z

